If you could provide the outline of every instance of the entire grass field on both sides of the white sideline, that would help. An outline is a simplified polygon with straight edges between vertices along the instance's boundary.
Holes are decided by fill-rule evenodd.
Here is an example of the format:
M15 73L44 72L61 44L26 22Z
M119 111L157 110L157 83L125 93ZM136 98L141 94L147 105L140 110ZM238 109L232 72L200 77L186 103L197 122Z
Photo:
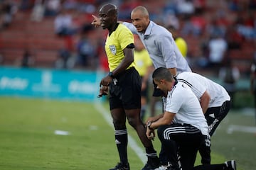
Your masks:
M111 168L119 159L106 113L107 103L0 97L0 169ZM236 128L238 125L250 126L252 132L241 132ZM231 111L213 135L213 164L235 159L239 170L255 169L253 128L252 111ZM128 130L137 146L144 150L136 132L130 127ZM159 140L154 141L154 146L159 151ZM131 147L128 154L131 169L144 166L143 159Z

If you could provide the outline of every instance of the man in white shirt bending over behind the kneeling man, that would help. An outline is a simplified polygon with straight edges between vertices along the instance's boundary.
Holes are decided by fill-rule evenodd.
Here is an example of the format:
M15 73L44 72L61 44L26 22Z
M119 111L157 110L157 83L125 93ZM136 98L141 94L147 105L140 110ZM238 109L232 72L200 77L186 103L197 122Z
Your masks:
M178 74L176 79L190 86L198 98L206 117L209 126L208 133L211 137L221 120L230 111L230 96L228 92L220 84L200 74L183 72ZM206 139L206 142L203 142L199 149L202 164L210 164L210 137Z

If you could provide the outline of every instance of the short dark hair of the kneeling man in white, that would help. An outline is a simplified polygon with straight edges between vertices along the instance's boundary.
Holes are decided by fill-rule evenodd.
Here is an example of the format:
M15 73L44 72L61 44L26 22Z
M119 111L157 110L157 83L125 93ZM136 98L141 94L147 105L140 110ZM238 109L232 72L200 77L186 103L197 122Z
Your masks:
M161 79L165 79L166 81L174 81L174 77L172 76L171 72L169 69L166 69L164 67L159 67L154 70L152 74L152 78L155 79L156 81L160 81Z

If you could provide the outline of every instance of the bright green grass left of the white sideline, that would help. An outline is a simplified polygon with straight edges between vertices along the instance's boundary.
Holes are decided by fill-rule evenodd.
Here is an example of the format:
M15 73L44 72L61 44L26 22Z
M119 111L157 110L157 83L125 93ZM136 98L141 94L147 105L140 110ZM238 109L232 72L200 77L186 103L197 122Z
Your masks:
M0 98L0 108L1 170L107 169L118 162L112 127L93 104ZM143 166L129 154L133 169Z

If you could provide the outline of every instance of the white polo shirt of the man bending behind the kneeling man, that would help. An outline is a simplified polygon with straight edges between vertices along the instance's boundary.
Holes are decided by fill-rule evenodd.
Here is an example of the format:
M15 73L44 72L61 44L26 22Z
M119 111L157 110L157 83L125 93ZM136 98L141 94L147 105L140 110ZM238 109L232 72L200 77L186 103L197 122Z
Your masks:
M183 72L178 74L176 79L188 84L193 93L196 94L199 101L203 93L207 91L210 95L209 108L220 107L225 101L230 101L230 96L223 86L220 86L220 84L217 84L214 81L201 76L200 74Z

